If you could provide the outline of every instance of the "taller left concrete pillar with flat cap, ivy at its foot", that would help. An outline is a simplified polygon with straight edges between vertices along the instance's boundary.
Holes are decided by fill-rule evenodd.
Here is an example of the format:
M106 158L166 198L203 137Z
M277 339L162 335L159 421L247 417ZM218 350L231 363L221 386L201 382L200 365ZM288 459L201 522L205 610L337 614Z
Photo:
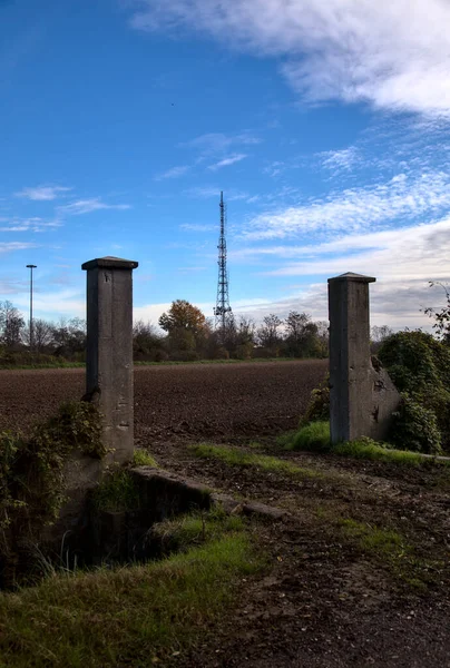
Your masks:
M137 262L99 257L87 272L86 395L104 416L104 442L113 459L133 459L133 275Z

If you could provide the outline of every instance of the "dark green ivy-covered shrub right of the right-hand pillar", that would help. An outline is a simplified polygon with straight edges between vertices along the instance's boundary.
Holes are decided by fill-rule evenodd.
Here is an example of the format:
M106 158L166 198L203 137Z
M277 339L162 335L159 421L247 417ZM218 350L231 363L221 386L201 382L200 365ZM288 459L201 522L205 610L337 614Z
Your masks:
M450 450L450 347L425 332L398 332L378 356L403 395L390 440L419 452Z

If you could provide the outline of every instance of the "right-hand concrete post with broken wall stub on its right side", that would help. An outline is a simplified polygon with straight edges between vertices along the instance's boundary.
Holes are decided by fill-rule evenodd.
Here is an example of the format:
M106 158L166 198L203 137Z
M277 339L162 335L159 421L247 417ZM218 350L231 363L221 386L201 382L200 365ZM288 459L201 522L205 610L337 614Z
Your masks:
M385 438L400 396L370 354L369 283L342 274L329 278L330 429L332 443Z

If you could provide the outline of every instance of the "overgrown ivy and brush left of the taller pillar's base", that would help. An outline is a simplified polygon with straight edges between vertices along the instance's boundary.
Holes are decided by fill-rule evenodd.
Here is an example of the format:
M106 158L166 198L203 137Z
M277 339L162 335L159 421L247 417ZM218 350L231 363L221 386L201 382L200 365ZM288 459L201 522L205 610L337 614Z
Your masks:
M91 403L62 404L28 439L0 434L0 566L8 584L16 579L20 556L58 517L65 466L74 451L94 458L106 454L100 415Z

